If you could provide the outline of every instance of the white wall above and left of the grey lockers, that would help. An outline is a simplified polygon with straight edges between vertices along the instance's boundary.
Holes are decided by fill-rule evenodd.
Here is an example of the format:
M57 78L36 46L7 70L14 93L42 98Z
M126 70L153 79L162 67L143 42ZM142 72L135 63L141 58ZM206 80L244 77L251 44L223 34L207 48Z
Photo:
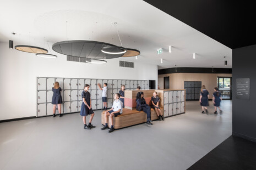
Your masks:
M106 78L155 80L157 65L134 63L134 69L119 67L119 60L107 64L67 61L64 55L46 59L9 49L0 43L0 120L36 116L36 77Z

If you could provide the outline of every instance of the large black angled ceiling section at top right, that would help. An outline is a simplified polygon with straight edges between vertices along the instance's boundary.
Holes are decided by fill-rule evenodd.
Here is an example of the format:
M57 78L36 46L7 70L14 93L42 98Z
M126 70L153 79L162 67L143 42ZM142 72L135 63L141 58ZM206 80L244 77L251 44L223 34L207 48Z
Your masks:
M231 49L256 44L254 1L144 1Z

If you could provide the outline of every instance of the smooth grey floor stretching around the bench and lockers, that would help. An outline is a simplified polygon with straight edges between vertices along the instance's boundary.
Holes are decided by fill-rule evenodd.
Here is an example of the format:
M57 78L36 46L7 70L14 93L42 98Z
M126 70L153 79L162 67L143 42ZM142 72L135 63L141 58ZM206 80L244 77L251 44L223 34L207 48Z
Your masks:
M101 111L90 131L79 114L0 123L0 169L187 169L232 134L232 101L222 115L213 106L201 114L198 101L186 107L113 133L101 131Z

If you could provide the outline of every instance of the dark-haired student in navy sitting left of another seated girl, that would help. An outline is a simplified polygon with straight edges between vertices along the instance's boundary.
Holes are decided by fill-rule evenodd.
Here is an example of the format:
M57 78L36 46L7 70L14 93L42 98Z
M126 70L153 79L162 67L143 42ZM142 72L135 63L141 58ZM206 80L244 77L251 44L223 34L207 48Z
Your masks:
M148 104L146 104L146 100L144 99L143 92L137 93L136 103L137 103L136 109L138 111L143 110L146 113L146 124L152 125L150 107Z

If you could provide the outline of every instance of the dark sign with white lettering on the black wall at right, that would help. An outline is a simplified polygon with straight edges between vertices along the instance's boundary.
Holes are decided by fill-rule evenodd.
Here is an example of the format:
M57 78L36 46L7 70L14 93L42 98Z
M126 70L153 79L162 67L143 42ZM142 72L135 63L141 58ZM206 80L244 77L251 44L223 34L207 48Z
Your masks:
M250 99L250 78L236 79L236 98L242 100Z

